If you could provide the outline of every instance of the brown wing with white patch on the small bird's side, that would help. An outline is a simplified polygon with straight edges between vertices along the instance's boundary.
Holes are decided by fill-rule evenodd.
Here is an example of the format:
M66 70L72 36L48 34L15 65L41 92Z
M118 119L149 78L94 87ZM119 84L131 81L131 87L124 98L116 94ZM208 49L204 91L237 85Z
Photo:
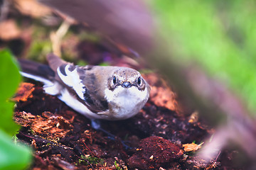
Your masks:
M47 57L50 68L57 72L58 77L64 86L69 86L71 95L77 96L78 101L85 104L93 113L107 111L108 103L104 96L99 93L100 86L97 86L93 66L78 67L65 62L56 55Z

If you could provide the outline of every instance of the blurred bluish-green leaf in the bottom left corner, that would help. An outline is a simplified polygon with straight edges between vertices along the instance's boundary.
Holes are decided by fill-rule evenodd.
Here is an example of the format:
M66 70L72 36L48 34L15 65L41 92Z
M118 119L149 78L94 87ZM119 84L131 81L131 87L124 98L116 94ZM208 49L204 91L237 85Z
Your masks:
M31 162L31 150L23 145L15 145L11 137L0 130L0 170L25 169Z

